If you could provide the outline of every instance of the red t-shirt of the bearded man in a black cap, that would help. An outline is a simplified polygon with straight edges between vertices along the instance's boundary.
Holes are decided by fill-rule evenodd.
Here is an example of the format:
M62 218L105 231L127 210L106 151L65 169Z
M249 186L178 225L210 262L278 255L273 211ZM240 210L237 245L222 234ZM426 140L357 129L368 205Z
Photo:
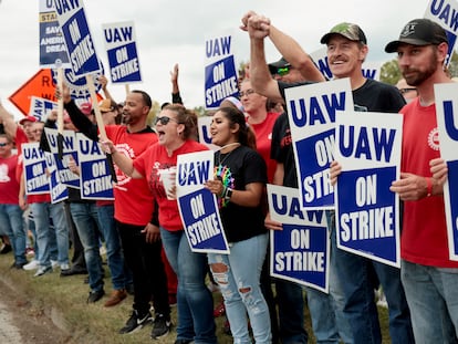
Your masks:
M440 156L436 106L420 106L417 97L400 113L404 114L400 170L431 177L429 161ZM458 261L449 259L441 195L404 202L400 256L423 265L458 268Z

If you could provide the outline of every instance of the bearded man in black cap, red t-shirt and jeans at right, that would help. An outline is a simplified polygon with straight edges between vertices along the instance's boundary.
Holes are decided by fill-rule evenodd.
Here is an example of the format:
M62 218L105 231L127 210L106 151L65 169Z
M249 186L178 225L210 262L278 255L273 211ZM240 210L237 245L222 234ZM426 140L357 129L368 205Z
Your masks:
M438 159L434 90L435 84L451 82L445 72L447 34L428 19L415 19L385 51L397 53L403 76L418 91L418 97L400 111L404 114L402 173L392 186L392 191L404 200L400 272L415 340L457 343L458 262L449 258L443 197L445 178L437 177L446 177L447 167Z

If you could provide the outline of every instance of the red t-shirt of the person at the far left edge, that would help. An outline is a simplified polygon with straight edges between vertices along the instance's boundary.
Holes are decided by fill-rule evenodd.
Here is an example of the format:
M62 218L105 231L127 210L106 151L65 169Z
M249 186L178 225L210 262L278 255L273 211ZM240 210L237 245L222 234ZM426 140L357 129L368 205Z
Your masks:
M0 157L0 205L19 204L19 183L15 178L18 156Z

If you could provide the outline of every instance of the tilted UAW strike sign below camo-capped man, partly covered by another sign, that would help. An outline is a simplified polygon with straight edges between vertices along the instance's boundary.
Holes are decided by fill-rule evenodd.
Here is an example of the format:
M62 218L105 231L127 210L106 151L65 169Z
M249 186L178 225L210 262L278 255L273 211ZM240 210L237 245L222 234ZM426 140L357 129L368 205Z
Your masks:
M303 208L326 209L334 205L330 164L334 160L336 111L353 111L347 77L287 88L298 185Z

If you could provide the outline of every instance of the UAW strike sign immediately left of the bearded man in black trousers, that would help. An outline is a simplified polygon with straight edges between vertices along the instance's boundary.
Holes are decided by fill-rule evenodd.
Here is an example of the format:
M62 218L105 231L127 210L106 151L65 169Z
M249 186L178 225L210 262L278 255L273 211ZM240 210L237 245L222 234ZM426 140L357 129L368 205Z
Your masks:
M76 133L82 199L114 199L112 174L101 145Z

